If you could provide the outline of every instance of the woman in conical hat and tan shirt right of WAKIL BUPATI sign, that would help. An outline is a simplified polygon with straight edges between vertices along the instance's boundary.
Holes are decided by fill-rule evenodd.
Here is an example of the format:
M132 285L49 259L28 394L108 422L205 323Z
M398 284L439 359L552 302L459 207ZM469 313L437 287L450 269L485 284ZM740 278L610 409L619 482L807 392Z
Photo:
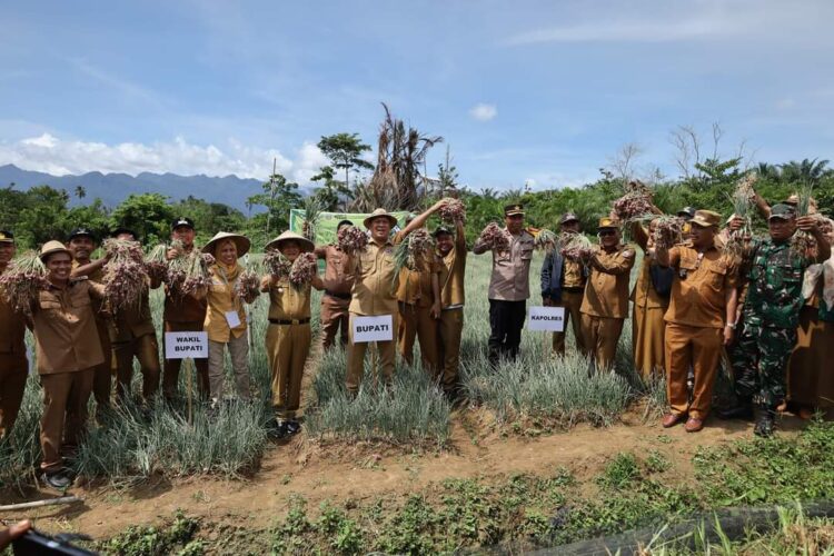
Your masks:
M202 252L215 257L215 264L209 268L211 286L203 325L209 339L209 391L215 405L224 399L224 355L227 347L238 397L244 400L250 397L249 342L244 301L250 304L255 298L241 299L237 291L237 282L244 271L238 258L249 251L249 239L244 236L219 231L202 248Z

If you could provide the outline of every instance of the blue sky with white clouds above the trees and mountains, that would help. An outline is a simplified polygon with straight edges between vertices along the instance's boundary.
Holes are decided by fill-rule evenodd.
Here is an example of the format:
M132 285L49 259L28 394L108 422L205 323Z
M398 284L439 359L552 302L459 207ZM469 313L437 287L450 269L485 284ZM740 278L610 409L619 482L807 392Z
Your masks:
M677 176L693 126L747 162L834 158L834 2L0 4L0 163L305 182L380 101L473 187L593 180L625 143ZM445 156L437 147L429 173Z

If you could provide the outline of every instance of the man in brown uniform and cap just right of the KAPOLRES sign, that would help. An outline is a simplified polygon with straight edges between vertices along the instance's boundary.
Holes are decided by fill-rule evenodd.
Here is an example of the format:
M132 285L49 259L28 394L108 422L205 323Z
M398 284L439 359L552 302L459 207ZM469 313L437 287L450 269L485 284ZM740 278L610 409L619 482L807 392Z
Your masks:
M619 225L600 218L599 247L587 265L590 277L582 300L582 335L585 355L597 370L610 370L617 354L623 322L628 317L628 278L634 266L634 249L620 244Z

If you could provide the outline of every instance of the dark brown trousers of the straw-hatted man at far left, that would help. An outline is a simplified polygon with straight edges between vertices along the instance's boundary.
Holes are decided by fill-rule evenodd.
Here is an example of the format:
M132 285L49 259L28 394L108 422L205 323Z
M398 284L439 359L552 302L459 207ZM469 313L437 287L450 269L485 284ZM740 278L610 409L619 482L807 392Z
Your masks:
M63 468L61 456L70 456L87 428L87 400L90 399L95 367L73 373L41 375L43 415L40 418L40 446L47 471Z

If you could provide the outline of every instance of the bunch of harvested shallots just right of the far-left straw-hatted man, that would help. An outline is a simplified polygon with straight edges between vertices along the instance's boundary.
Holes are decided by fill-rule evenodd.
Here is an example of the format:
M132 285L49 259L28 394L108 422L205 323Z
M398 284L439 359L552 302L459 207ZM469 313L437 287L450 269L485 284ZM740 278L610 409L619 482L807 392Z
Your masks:
M102 247L109 258L105 267L105 298L112 309L135 306L148 287L142 246L139 241L107 239Z

